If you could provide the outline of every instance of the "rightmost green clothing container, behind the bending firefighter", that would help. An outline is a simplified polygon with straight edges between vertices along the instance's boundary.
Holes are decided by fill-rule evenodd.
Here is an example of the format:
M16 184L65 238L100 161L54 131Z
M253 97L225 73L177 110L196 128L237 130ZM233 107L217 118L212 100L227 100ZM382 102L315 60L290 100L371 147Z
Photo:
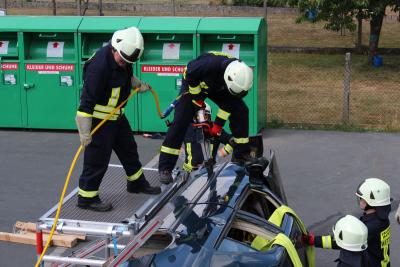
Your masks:
M253 69L253 87L245 97L249 108L249 133L266 125L267 27L263 18L203 18L197 27L197 54L224 52ZM209 100L209 102L211 102ZM212 103L213 115L218 108ZM214 117L213 116L213 117ZM227 123L229 124L229 123ZM225 127L227 128L227 127Z

